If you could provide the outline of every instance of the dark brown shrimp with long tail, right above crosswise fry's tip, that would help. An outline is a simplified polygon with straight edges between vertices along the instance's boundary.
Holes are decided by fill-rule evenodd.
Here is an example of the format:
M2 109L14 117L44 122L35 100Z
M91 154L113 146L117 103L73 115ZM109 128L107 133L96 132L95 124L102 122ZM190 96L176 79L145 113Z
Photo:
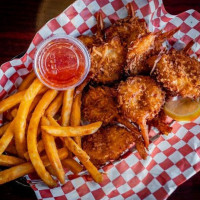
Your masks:
M147 153L138 129L118 113L116 91L113 88L106 86L90 87L82 98L82 114L84 120L89 122L101 120L103 126L120 123L127 127L136 138L136 148L140 156L143 159L146 158Z

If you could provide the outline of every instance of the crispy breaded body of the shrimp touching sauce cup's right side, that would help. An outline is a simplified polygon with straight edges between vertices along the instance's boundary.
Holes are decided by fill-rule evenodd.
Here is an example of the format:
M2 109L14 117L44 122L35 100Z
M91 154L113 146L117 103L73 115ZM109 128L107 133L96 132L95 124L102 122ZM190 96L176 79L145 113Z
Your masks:
M92 80L108 84L121 78L125 64L125 51L119 37L91 49Z

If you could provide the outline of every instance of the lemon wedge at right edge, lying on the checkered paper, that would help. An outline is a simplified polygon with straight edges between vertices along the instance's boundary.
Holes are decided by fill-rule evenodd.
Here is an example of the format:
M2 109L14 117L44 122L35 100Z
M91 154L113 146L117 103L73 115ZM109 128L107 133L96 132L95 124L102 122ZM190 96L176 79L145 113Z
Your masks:
M164 111L177 121L192 121L200 116L200 101L189 98L173 98L165 103Z

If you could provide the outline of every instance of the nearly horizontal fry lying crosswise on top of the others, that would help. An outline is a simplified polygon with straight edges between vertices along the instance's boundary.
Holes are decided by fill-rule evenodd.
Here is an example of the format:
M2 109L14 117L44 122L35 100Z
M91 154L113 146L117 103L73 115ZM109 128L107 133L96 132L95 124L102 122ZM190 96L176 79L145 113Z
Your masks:
M56 127L56 126L42 126L42 130L47 133L57 136L57 137L75 137L75 136L83 136L90 135L95 133L102 125L102 122L95 122L92 124L84 125L84 126L66 126L66 127Z

